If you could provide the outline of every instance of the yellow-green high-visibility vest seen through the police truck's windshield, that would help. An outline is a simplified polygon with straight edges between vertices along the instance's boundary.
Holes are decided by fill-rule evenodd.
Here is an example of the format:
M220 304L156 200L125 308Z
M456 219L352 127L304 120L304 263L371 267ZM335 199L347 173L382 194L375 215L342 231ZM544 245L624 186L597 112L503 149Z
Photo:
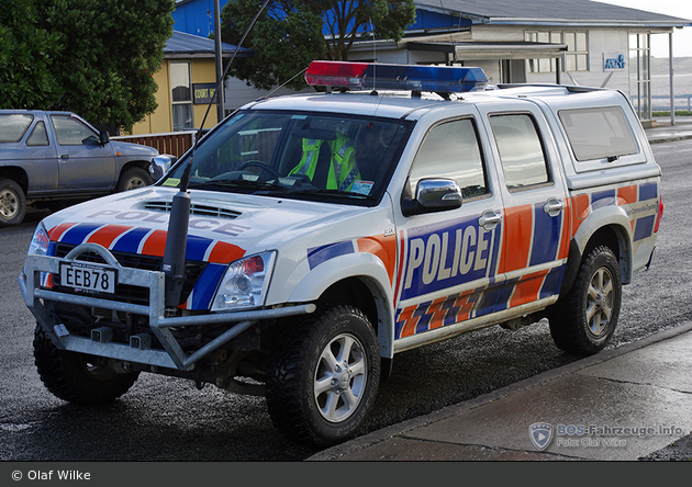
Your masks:
M304 174L310 180L315 175L320 147L324 140L314 138L303 139L303 157L289 175ZM327 140L332 160L327 173L327 190L349 191L354 182L360 179L360 171L356 166L356 149L348 137L342 134L336 135L335 140Z

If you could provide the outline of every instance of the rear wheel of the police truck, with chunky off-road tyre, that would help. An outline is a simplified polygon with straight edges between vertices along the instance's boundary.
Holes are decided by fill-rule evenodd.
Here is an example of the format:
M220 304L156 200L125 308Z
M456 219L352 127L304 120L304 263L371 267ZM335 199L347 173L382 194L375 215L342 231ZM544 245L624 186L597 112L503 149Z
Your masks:
M592 355L605 348L620 316L622 281L613 251L599 246L582 260L565 299L551 312L550 335L566 352Z

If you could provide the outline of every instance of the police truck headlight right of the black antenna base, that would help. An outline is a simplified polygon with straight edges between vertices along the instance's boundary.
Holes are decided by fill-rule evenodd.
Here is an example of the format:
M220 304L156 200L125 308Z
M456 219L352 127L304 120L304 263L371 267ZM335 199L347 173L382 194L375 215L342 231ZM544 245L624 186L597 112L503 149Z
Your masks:
M276 252L236 260L221 281L212 312L254 308L265 303Z

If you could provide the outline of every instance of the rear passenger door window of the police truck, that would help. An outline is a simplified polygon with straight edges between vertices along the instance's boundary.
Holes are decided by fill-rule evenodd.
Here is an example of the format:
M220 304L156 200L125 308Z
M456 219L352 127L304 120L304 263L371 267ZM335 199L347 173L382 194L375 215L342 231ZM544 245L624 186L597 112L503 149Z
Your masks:
M493 115L490 124L509 190L521 190L550 181L543 144L531 115Z

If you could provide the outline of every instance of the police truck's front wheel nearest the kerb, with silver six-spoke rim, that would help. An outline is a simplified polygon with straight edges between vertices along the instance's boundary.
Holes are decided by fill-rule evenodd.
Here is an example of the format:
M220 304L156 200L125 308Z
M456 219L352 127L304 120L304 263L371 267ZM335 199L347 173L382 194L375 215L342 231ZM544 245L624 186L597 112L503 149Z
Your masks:
M267 408L284 437L317 446L356 435L380 377L377 338L358 308L319 308L272 353Z

